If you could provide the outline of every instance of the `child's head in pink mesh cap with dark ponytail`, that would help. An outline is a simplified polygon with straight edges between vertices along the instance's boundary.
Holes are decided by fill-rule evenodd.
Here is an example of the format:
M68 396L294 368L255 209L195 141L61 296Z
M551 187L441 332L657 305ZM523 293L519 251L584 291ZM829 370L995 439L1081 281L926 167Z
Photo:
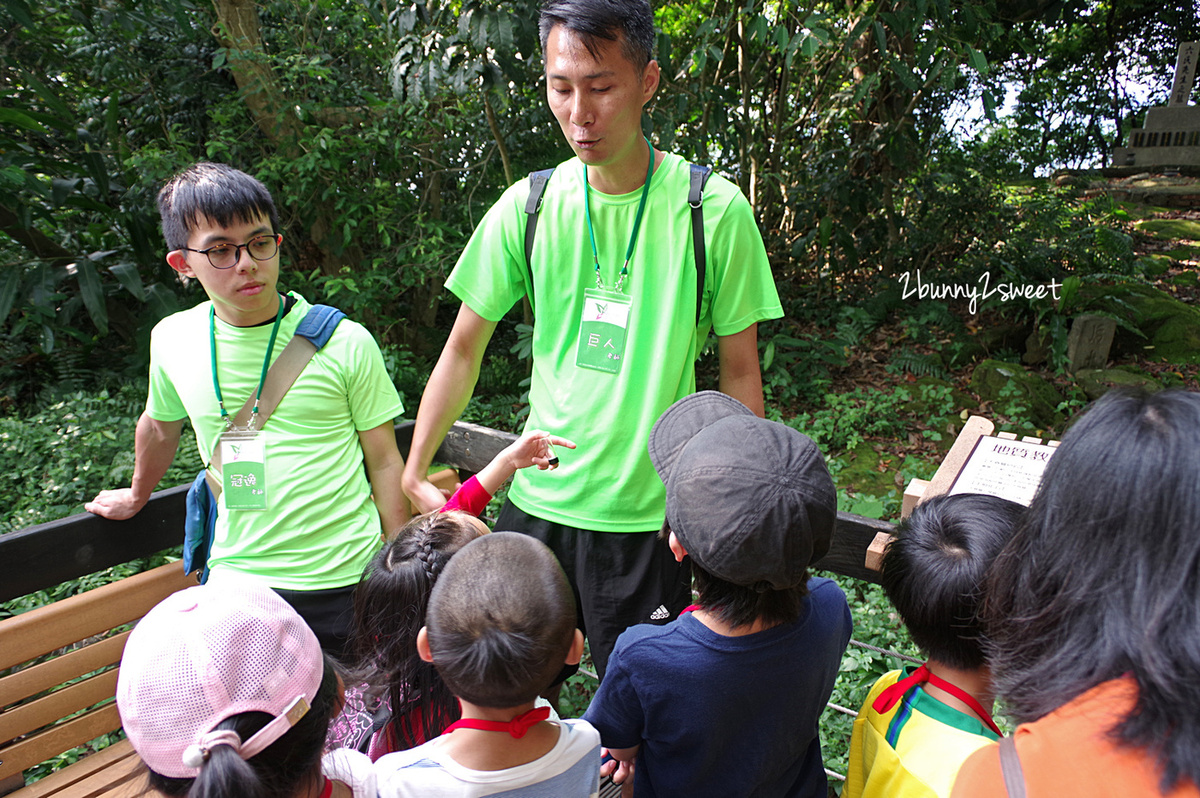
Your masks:
M337 676L283 599L228 577L181 590L138 623L116 707L151 787L284 798L320 779Z

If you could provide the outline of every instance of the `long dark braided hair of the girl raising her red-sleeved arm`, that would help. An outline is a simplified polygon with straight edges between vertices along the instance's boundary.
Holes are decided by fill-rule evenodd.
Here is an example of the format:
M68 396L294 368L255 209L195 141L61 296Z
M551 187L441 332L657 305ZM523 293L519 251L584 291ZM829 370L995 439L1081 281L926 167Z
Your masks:
M386 694L395 749L433 739L458 720L458 702L416 654L430 593L450 557L479 536L464 512L428 512L408 522L367 564L354 590L350 677L367 695Z

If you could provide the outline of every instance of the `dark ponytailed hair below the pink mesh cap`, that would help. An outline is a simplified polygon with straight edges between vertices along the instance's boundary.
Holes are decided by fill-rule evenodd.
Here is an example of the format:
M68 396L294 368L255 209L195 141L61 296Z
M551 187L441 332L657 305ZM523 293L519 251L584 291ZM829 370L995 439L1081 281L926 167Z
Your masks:
M151 790L188 798L293 798L306 782L319 780L325 734L338 704L337 673L325 658L325 671L308 712L277 740L241 758L229 745L215 745L194 779L173 779L146 769ZM271 715L247 712L221 721L215 728L250 739Z

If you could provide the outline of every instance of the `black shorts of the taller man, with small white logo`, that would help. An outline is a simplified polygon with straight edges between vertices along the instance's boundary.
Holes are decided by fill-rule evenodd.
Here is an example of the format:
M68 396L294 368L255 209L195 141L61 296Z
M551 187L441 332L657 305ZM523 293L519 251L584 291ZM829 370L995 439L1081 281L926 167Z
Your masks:
M620 632L634 624L665 624L691 604L689 560L677 563L656 529L577 529L534 517L509 500L496 520L496 530L536 538L558 557L575 590L580 629L600 678Z

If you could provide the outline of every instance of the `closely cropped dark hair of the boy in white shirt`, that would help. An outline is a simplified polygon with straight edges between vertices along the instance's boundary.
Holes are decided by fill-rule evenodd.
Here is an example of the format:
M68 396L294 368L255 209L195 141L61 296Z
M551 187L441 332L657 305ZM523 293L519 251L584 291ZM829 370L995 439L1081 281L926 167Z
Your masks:
M456 696L518 707L562 671L575 640L575 596L545 544L494 533L450 560L425 625L433 662Z

